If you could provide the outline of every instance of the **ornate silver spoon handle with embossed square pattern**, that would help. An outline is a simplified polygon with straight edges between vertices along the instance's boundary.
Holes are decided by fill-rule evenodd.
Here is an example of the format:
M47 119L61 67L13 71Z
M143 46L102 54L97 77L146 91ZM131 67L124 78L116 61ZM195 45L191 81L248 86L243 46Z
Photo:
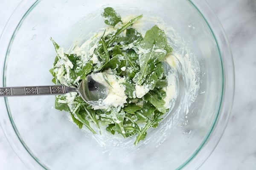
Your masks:
M0 96L60 95L76 91L65 85L23 86L0 88Z

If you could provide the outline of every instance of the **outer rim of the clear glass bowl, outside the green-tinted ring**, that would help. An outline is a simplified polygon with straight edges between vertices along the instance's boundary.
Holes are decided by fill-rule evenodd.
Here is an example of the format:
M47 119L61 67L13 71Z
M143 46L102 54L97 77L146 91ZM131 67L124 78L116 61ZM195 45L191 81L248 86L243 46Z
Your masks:
M6 27L4 28L0 37L0 45L3 47L2 49L4 49L2 50L3 52L0 52L1 55L3 53L3 56L7 56L10 42L13 40L15 32L17 31L26 15L29 14L29 12L36 6L38 2L40 2L40 0L24 0L17 6L12 16L9 18ZM179 168L177 168L190 170L198 169L201 164L204 163L204 161L215 149L219 140L221 139L222 134L224 133L233 105L235 73L230 46L225 36L224 30L218 21L218 18L215 16L206 2L202 0L188 0L188 2L194 6L194 8L198 11L198 13L209 26L209 29L212 32L212 35L215 38L218 46L223 71L222 98L219 112L216 114L215 122L213 123L211 130L209 130L207 137L201 143L201 146L198 148L198 150L196 150L195 153L187 161L185 161L180 165ZM220 49L220 45L226 48ZM6 54L4 54L5 51L7 51ZM0 75L3 75L3 87L5 87L6 57L4 57L4 59L0 59L0 63L4 63L3 70L1 70ZM47 167L42 164L41 161L38 160L32 152L29 151L29 148L26 146L21 136L19 135L15 124L12 121L12 115L10 114L8 100L6 97L4 98L4 102L8 114L6 114L6 112L2 112L3 115L1 116L2 118L0 118L0 125L9 144L12 146L17 156L19 156L19 158L29 169L43 168L47 170ZM6 121L6 118L9 119L10 122Z

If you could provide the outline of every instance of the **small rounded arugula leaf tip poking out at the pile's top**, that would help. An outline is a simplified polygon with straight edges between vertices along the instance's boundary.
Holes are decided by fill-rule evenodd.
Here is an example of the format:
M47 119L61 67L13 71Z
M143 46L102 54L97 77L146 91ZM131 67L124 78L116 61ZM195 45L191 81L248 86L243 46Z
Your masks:
M122 23L120 15L116 14L116 11L111 7L105 8L102 16L106 19L105 24L109 26L116 26L119 22Z

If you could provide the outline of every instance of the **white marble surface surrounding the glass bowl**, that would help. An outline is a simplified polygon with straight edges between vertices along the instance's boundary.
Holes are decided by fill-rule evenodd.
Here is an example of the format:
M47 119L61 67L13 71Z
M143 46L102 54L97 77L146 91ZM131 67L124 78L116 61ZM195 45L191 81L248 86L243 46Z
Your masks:
M200 170L256 169L256 0L206 0L233 52L236 92L221 141ZM20 0L0 0L0 32ZM0 130L0 170L27 170Z

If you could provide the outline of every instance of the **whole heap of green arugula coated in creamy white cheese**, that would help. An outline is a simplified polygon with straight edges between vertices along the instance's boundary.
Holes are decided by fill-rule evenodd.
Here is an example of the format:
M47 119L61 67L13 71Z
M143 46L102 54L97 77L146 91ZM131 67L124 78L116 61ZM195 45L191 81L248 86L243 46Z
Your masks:
M105 126L111 134L124 138L137 136L134 142L137 145L145 139L147 130L156 128L163 119L162 115L168 111L163 90L168 81L162 62L173 49L167 43L163 30L157 26L146 31L144 37L134 28L133 24L143 15L123 23L121 16L107 7L102 17L113 31L106 28L102 35L87 41L86 48L81 45L64 52L50 38L57 55L49 72L53 83L72 87L78 87L88 74L102 73L102 79L110 89L115 88L113 81L122 79L119 85L127 97L126 102L117 107L97 108L84 102L78 94L66 94L55 97L55 108L69 112L80 129L87 127L95 134L101 133L100 126ZM111 81L109 77L112 77ZM141 95L138 89L148 93Z

